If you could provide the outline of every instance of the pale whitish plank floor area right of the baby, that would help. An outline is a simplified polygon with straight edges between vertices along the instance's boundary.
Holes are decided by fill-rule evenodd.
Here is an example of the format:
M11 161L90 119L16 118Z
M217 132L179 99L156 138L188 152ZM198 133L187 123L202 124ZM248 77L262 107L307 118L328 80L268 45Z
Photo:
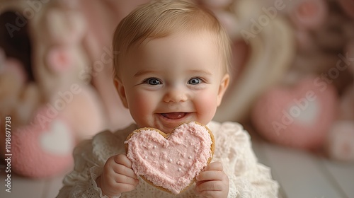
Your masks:
M272 168L280 197L354 197L354 163L329 161L306 151L269 144L253 136L259 161Z

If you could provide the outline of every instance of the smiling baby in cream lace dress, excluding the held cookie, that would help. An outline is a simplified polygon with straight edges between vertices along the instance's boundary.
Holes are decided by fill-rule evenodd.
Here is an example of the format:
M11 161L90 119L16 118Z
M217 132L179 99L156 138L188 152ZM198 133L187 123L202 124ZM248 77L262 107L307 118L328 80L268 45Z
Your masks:
M57 197L277 197L278 183L257 163L249 134L234 122L212 122L229 85L229 38L217 18L188 1L152 1L118 25L113 39L115 87L135 120L101 132L74 150L75 167ZM207 124L212 163L194 185L173 195L132 170L124 141L140 127L170 133L182 122Z

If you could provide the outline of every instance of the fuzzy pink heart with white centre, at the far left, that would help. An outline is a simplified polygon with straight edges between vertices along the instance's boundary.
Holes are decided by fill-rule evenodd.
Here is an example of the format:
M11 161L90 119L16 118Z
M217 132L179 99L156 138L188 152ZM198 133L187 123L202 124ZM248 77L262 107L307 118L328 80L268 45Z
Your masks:
M64 117L52 116L50 108L40 107L30 124L14 129L11 139L13 171L26 177L42 178L69 168L74 148L71 128ZM43 144L43 141L51 142Z

